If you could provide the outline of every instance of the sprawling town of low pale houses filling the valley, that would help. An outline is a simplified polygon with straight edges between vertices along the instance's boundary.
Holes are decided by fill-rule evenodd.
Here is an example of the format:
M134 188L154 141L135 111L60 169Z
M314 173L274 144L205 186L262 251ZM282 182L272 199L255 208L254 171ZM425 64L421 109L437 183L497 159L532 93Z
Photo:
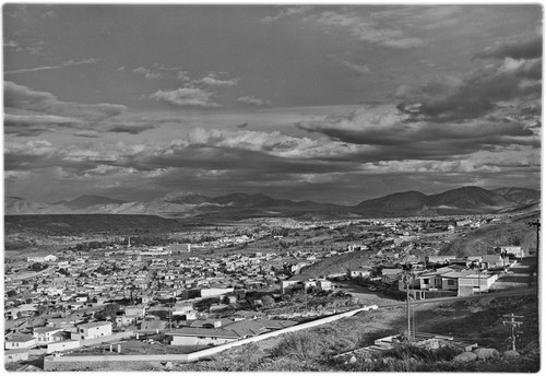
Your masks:
M378 303L511 289L502 281L536 255L518 239L482 255L441 252L511 221L252 219L171 234L161 246L123 236L7 258L4 359L199 354ZM352 263L330 266L336 258ZM533 273L523 286L536 283Z

